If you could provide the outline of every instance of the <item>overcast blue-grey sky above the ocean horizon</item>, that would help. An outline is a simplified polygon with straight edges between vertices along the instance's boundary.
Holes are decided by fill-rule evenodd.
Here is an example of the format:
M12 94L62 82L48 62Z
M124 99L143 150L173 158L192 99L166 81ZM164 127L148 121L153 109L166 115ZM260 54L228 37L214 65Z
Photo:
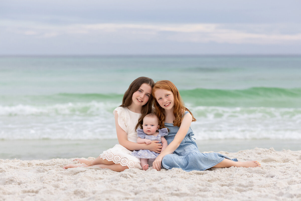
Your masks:
M300 8L300 0L0 0L0 55L301 54Z

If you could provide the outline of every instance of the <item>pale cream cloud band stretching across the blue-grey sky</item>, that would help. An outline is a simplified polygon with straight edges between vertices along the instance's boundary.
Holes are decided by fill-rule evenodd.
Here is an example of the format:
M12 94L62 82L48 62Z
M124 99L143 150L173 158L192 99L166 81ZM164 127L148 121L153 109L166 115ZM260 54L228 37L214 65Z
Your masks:
M53 25L45 23L5 21L0 24L7 34L36 38L58 36L100 37L107 42L139 42L154 39L174 42L232 43L232 44L282 44L300 43L301 32L281 33L281 24L151 24L151 23L102 23ZM296 25L297 26L297 25ZM258 27L261 27L258 29ZM280 28L277 28L280 27ZM297 27L301 27L298 25ZM277 31L277 29L279 29Z

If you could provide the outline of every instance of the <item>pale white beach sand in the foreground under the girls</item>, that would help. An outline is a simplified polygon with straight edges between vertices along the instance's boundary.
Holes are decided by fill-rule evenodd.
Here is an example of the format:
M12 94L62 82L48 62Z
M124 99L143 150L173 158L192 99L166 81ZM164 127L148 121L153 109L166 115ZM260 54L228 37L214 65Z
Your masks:
M69 168L72 159L0 159L2 200L301 200L301 151L220 152L261 168L114 172Z

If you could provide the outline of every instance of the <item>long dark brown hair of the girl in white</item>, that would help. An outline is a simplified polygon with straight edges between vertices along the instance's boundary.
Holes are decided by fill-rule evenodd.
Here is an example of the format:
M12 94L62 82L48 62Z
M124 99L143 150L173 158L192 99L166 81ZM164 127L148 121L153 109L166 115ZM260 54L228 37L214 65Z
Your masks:
M135 93L142 84L148 84L149 86L151 86L151 88L153 89L155 82L154 80L152 80L151 78L148 77L138 77L136 80L134 80L128 90L126 90L126 93L124 93L123 95L123 99L122 99L122 104L120 105L120 107L129 107L132 104L132 96L133 93ZM147 115L148 113L151 113L152 111L152 95L150 95L148 102L142 106L141 109L141 117L138 119L138 124L136 125L136 129L138 128L138 126L143 124L143 118L145 117L145 115Z

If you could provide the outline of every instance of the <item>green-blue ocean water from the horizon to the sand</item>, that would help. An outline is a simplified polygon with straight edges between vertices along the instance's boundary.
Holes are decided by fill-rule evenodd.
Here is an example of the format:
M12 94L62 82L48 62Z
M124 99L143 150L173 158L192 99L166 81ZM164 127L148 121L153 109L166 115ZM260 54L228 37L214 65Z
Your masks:
M301 149L301 56L2 56L0 158L44 159L41 144L58 150L48 158L110 148L112 111L140 76L175 83L201 151Z

